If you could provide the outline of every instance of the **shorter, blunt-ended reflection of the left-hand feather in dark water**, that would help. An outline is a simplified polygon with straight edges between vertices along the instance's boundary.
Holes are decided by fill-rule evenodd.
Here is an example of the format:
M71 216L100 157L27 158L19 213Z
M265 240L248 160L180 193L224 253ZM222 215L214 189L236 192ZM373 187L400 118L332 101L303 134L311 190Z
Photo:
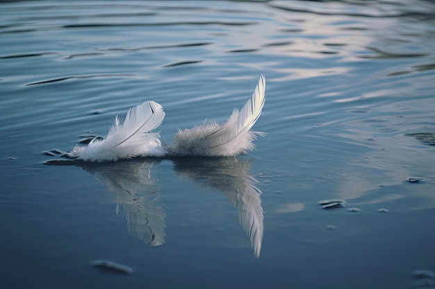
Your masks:
M160 161L139 160L117 163L86 164L82 168L95 176L112 193L127 220L131 236L151 246L165 243L165 211L156 207L160 194L155 168Z

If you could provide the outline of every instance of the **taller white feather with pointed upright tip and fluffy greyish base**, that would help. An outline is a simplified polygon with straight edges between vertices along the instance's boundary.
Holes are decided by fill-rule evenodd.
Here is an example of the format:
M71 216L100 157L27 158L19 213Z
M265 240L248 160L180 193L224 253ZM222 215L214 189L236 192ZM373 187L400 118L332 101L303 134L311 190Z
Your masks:
M240 112L233 110L229 119L220 125L215 122L203 123L194 128L179 130L166 147L169 155L230 156L245 154L254 149L254 141L262 132L252 132L265 103L265 78L258 79L252 97Z

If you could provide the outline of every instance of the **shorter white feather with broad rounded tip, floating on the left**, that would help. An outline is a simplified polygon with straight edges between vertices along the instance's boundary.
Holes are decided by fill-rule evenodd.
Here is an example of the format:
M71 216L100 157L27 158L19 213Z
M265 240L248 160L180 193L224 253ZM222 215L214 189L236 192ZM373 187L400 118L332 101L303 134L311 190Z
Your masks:
M145 101L131 107L120 125L118 117L109 129L106 139L95 138L88 146L76 146L68 157L82 161L117 161L131 157L165 155L160 134L151 132L165 118L163 107L154 101Z

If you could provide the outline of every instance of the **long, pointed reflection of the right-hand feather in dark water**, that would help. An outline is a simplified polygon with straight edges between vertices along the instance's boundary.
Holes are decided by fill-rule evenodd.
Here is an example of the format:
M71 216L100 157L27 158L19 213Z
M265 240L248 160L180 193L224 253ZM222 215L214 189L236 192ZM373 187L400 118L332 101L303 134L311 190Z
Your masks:
M173 159L177 175L188 177L204 186L211 186L224 193L237 209L240 225L245 230L258 258L263 241L263 208L257 181L249 175L254 159L192 158Z

